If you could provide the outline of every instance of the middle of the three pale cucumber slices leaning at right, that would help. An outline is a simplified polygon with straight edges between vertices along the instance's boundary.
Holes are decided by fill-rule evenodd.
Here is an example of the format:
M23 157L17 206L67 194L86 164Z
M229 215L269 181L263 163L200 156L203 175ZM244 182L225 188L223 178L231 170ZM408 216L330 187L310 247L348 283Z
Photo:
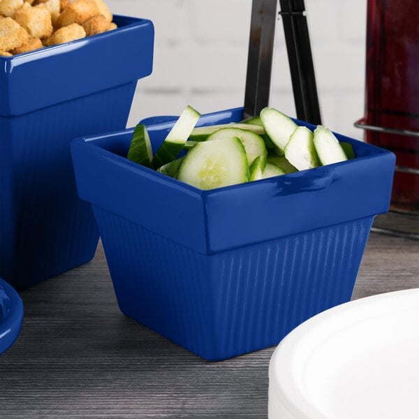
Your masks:
M319 166L314 135L305 126L299 126L291 135L285 147L286 159L298 170L312 169Z

